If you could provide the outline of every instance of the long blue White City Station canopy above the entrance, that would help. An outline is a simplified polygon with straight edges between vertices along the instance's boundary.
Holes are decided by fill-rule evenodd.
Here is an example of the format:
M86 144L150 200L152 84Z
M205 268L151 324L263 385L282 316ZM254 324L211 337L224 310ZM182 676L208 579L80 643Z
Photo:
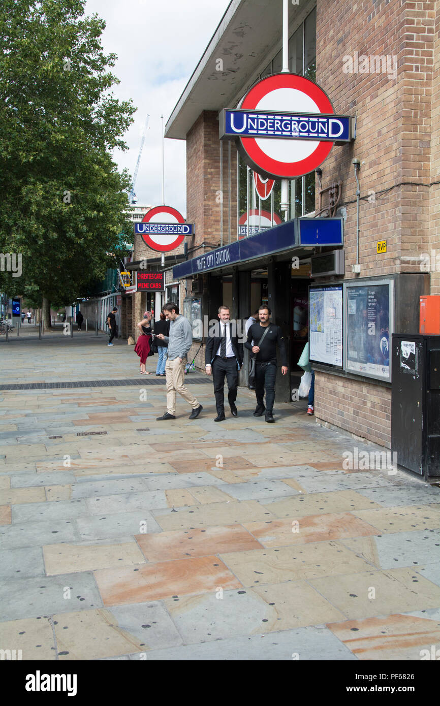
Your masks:
M307 250L314 246L334 248L343 244L342 218L295 218L175 265L172 273L174 280L180 280L212 270L224 270L232 265L244 265L266 256L278 258L285 254L287 258L292 256L292 251L297 256L304 251L307 256Z

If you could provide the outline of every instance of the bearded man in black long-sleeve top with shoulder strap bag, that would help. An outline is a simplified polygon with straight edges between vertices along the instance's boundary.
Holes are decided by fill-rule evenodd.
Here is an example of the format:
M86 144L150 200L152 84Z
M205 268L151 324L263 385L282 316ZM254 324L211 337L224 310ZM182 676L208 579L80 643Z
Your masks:
M287 354L284 345L283 334L279 326L270 323L270 309L266 304L262 304L258 309L260 323L254 323L247 332L247 341L244 344L256 357L255 368L255 394L256 410L254 417L261 417L263 412L265 420L269 422L273 419L273 402L275 401L275 378L277 376L277 345L280 349L281 373L287 373ZM261 347L259 341L264 336ZM254 345L252 345L254 341ZM266 388L266 407L264 406L264 390Z

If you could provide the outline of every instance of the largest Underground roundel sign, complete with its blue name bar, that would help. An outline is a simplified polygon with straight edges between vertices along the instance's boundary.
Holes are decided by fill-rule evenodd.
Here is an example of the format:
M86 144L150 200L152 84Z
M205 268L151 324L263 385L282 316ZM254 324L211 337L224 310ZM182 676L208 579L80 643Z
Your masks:
M235 139L251 169L271 179L295 179L349 142L350 116L335 115L326 92L296 73L275 73L253 85L236 110L221 114L220 139Z

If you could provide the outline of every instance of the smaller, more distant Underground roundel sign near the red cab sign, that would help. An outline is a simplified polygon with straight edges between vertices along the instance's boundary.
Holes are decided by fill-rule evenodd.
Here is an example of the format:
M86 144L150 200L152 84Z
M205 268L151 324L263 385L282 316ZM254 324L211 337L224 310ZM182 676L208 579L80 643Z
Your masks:
M191 234L191 225L187 225L182 213L172 206L155 206L145 213L141 223L136 223L135 232L152 250L168 253Z

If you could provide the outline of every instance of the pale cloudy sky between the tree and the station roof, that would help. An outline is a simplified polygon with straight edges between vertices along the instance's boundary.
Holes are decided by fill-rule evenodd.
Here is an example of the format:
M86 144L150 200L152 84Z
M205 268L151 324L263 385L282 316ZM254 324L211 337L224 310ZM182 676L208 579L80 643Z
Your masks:
M179 100L191 73L230 0L88 0L87 15L105 20L102 46L118 56L113 73L121 80L114 95L133 99L135 122L126 152L115 152L120 169L133 176L150 114L136 180L138 205L162 203L161 121ZM165 203L186 216L186 160L183 140L165 140Z

